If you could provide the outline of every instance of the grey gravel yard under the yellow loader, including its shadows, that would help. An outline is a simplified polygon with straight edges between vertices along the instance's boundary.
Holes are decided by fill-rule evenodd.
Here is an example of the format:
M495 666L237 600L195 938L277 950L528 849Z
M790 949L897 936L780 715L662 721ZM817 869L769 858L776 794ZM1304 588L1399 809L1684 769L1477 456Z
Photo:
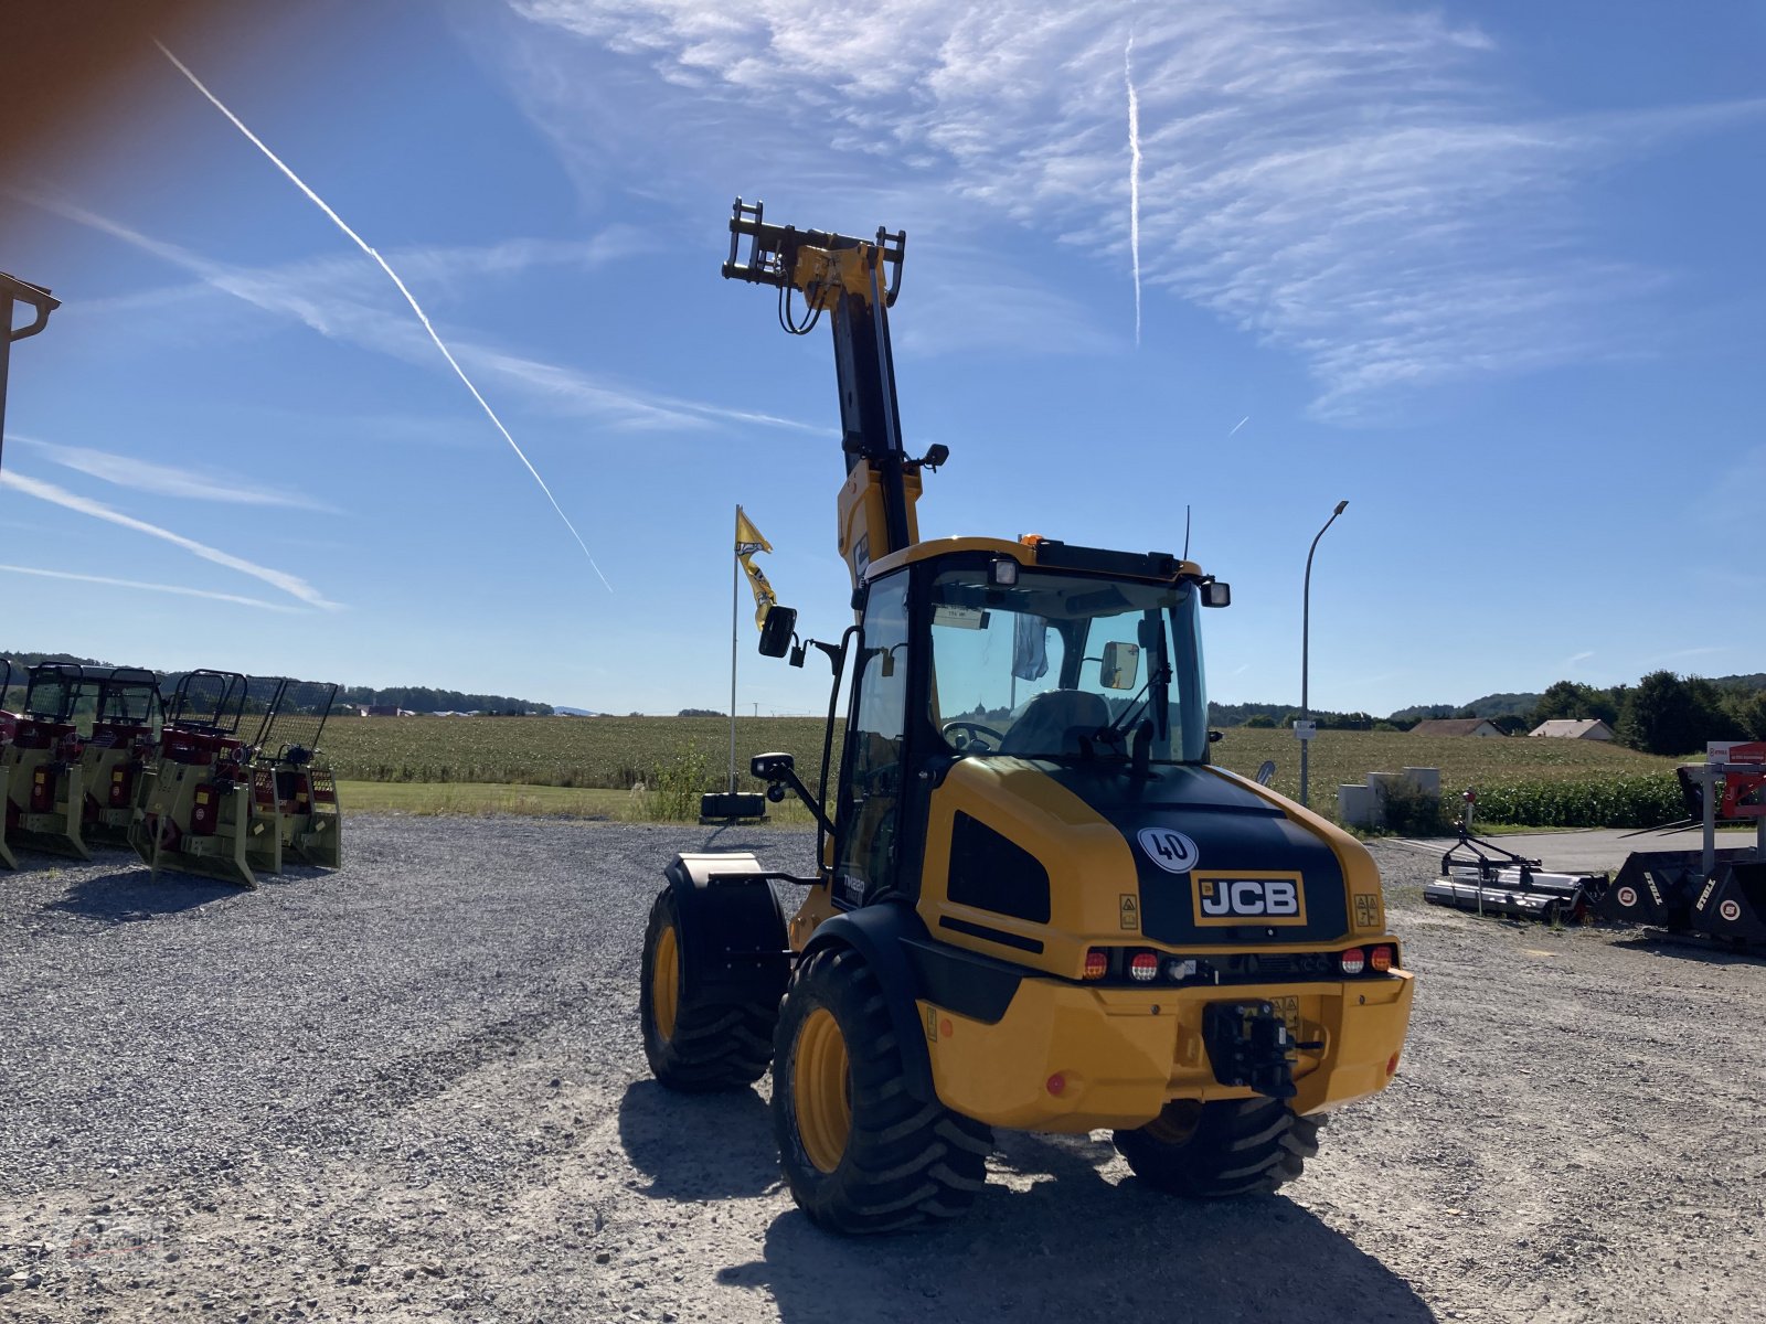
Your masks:
M837 1241L765 1086L648 1080L638 944L680 849L811 837L357 819L256 893L127 856L0 874L0 1317L1662 1320L1766 1301L1766 966L1434 911L1399 1080L1280 1195L1146 1192L1001 1133L955 1227Z

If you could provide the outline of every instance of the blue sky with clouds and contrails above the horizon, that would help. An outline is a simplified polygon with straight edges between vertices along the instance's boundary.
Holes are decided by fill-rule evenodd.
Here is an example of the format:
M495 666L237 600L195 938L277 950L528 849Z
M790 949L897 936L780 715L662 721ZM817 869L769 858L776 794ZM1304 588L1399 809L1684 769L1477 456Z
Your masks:
M1176 551L1194 508L1215 699L1298 701L1340 498L1316 706L1766 669L1762 12L486 0L184 39L606 584L397 288L155 58L0 192L0 268L65 300L12 357L0 648L721 706L736 501L809 632L846 600L828 341L719 279L742 194L908 229L924 535ZM819 710L749 621L743 711Z

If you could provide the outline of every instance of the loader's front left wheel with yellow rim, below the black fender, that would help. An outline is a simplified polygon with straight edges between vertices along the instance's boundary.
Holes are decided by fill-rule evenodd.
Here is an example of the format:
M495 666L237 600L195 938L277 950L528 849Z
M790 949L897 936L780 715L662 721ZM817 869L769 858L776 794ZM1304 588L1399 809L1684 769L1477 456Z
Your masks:
M779 1004L710 1003L685 994L687 948L671 888L650 907L638 1017L650 1073L689 1095L742 1089L766 1075ZM662 967L659 971L659 966ZM673 997L669 997L673 990Z

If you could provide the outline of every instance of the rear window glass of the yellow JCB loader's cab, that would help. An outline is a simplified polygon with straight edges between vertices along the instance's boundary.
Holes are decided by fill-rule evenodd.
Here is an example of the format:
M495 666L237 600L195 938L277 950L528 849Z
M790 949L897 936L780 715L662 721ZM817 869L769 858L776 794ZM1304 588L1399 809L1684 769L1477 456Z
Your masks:
M1151 720L1155 761L1208 761L1194 584L1024 567L1000 586L978 567L945 570L931 597L932 717L954 752L1127 756Z

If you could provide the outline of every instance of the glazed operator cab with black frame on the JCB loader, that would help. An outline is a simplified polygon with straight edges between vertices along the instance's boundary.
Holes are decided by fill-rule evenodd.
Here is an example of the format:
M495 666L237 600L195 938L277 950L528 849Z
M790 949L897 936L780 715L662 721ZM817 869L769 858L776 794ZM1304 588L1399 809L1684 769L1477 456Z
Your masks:
M1146 777L1208 763L1201 607L1173 556L924 542L872 567L832 807L834 902L911 895L931 796L962 759Z

